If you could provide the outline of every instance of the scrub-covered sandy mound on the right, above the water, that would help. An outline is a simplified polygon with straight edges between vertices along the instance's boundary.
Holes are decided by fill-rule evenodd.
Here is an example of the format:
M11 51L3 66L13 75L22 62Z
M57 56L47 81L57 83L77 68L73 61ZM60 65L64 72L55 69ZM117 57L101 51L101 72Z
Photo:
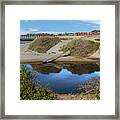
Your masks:
M71 56L88 57L99 49L100 43L76 39L64 45L60 51L67 52L70 51Z

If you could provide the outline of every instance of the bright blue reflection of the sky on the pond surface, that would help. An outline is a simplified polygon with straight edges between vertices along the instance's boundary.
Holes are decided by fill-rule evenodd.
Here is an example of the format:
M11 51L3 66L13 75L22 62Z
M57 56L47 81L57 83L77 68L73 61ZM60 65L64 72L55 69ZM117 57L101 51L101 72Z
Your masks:
M30 64L27 67L32 69ZM58 93L74 93L78 92L78 87L81 83L86 82L91 78L100 77L100 72L93 72L88 74L73 74L67 69L62 69L59 73L43 74L37 72L36 80L39 80L42 86L47 86L49 89Z

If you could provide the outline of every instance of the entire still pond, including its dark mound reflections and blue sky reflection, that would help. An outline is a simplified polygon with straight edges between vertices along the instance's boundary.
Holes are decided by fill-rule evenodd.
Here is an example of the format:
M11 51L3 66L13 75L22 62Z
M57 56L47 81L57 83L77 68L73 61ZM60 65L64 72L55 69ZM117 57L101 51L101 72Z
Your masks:
M36 80L43 87L48 87L56 93L77 93L80 84L86 81L100 78L100 67L93 63L68 64L24 64L33 72L36 72Z

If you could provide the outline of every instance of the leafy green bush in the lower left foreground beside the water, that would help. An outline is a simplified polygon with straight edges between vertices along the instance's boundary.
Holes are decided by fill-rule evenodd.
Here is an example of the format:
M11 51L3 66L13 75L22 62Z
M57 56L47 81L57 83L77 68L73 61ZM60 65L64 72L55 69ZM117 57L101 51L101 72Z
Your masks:
M20 99L21 100L54 100L56 94L48 88L43 88L35 78L35 73L30 72L25 66L20 70Z

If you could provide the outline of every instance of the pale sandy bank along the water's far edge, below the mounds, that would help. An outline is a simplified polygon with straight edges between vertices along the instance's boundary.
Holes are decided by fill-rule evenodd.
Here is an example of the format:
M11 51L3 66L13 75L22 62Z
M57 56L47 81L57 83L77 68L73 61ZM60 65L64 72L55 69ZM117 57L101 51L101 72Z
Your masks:
M26 51L27 44L20 45L20 63L34 63L43 62L44 59L54 56L49 53L37 53L34 51ZM97 62L99 63L99 56L92 56L92 58L77 58L75 56L59 57L55 62Z

